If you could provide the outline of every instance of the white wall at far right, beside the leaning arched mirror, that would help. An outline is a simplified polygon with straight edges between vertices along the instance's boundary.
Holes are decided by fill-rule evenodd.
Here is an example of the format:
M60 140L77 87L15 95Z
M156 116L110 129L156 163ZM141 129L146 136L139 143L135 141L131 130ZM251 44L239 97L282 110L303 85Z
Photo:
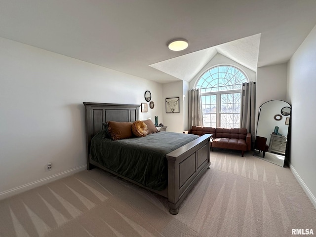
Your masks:
M293 173L316 207L316 27L288 63L292 104L290 162Z

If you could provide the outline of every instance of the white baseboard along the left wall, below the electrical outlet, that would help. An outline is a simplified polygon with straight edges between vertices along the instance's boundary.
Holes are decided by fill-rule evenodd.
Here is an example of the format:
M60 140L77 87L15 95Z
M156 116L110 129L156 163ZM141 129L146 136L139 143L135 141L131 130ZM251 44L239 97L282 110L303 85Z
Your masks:
M72 175L74 173L77 173L79 171L85 170L86 168L87 168L87 165L82 165L82 166L80 166L78 168L70 169L70 170L61 172L59 174L55 174L55 175L49 176L49 177L44 178L44 179L40 179L38 181L29 183L29 184L25 184L25 185L22 185L20 187L1 192L0 193L0 200L2 200L4 198L7 198L7 197L11 197L13 195L20 194L22 192L25 192L25 191L28 191L28 190L31 190L31 189L34 189L34 188L39 187L41 185L48 184L48 183L50 183L52 181L55 181L57 179L61 179L61 178L64 178L66 176L69 176L69 175Z

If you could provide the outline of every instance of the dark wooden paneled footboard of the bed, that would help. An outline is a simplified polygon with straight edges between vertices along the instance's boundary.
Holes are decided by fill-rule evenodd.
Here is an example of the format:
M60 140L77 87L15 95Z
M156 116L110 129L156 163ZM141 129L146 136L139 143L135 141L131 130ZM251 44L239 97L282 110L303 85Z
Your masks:
M205 134L196 140L167 154L168 203L170 213L178 214L178 208L195 183L209 168L209 139Z

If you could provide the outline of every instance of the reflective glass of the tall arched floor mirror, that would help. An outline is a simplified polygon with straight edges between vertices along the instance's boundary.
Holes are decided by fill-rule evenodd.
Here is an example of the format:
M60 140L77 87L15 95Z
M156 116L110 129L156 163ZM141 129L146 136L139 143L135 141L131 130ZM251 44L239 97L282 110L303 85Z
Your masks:
M282 100L271 100L260 106L254 156L284 166L289 127L286 121L290 114L291 105Z

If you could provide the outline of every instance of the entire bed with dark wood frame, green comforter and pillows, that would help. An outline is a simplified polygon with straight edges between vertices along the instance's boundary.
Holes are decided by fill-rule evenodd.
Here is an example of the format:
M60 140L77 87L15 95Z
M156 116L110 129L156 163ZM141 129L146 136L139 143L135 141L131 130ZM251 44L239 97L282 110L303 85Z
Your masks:
M210 135L205 134L201 137L191 135L191 137L187 137L187 135L182 133L157 132L153 121L147 119L143 122L147 125L149 135L114 141L111 139L113 134L110 134L110 137L108 137L108 132L105 130L106 127L111 130L110 125L117 125L117 122L123 122L125 124L124 129L130 126L131 130L133 122L139 119L140 105L91 102L83 102L83 104L85 106L87 169L90 170L95 166L99 167L162 197L166 197L170 208L169 212L174 215L177 214L179 205L188 196L197 181L203 177L204 172L209 169ZM105 124L107 125L105 126ZM126 133L124 131L119 132L121 126L116 128L117 137L119 134ZM144 128L146 129L146 126L141 124L138 128L143 130ZM129 134L130 132L127 135ZM182 143L185 145L181 145L176 142L179 139L187 142ZM102 147L102 144L106 148ZM146 148L140 148L141 146L146 146ZM115 149L116 147L120 149ZM161 149L162 147L165 147L166 150ZM173 149L171 147L177 148ZM116 152L121 149L124 149L124 151ZM133 152L130 152L131 150ZM169 152L170 150L172 152ZM129 153L126 153L128 151ZM141 154L143 156L140 156ZM144 154L147 155L144 156ZM153 156L156 156L155 154L160 156L163 161L160 159L161 162L157 164L148 163L155 162L155 160L156 162L159 161L159 159L153 159ZM140 162L140 159L147 161ZM126 162L126 160L129 160L129 162ZM149 165L151 168L159 168L161 172L163 171L162 175L156 179L159 172L147 169L149 167L147 164L151 164ZM116 169L113 169L113 165ZM146 169L143 169L144 166L146 166ZM133 172L130 172L131 170ZM144 172L147 172L146 175ZM146 179L142 179L145 176ZM161 181L163 181L164 185L159 186L159 189L151 187L156 185L156 183L159 184Z

